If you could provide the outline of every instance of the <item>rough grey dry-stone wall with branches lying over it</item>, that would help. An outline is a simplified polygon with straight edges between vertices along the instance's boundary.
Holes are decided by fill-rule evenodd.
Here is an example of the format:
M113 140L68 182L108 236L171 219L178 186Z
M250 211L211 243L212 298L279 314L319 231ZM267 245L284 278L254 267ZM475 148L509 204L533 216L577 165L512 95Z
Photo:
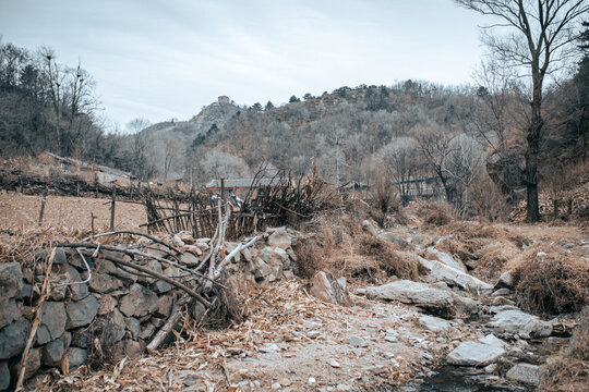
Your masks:
M178 237L178 236L177 236ZM244 248L226 270L238 281L269 284L292 275L296 236L286 229L268 229L253 247ZM194 268L208 250L206 241L183 238L184 252L179 261ZM171 241L171 240L170 240ZM169 249L158 244L143 244L149 253L164 257ZM227 243L227 253L238 243ZM101 250L129 261L123 253ZM38 261L45 255L39 255ZM51 290L43 304L41 319L26 364L26 378L39 369L59 367L72 370L84 364L99 365L124 355L141 355L147 343L170 316L172 305L183 293L171 284L133 272L98 255L86 257L92 277L73 249L57 248L50 274ZM155 259L134 260L170 278L182 275L175 266ZM0 390L15 383L39 298L38 287L45 278L45 264L23 267L19 262L0 264ZM87 282L84 282L87 280Z

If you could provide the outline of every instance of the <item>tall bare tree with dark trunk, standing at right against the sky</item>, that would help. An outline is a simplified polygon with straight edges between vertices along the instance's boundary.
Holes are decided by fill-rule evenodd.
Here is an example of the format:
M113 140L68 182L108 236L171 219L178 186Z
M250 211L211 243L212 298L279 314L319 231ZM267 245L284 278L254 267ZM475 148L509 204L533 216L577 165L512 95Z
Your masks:
M585 0L455 0L458 4L491 15L498 22L489 27L515 29L501 37L486 34L484 41L507 66L521 69L530 78L531 117L527 130L527 219L540 220L538 161L544 121L542 93L548 74L560 70L574 56L579 16L589 11Z

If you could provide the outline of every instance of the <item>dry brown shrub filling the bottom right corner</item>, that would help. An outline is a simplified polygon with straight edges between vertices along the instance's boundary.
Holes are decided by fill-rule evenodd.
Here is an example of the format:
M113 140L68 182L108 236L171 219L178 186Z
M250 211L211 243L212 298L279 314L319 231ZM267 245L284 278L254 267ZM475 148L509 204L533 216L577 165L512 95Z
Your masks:
M539 391L585 392L589 385L589 308L579 315L568 350L546 360Z

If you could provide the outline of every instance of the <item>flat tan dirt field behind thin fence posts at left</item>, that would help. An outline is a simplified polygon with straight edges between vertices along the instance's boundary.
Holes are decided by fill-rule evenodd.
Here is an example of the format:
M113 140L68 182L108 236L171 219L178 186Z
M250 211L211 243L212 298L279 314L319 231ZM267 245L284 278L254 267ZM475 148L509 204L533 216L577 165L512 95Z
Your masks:
M16 193L0 194L0 229L25 231L37 228L41 196L26 196ZM136 204L117 203L115 228L140 230L145 223L145 208ZM43 226L91 229L94 215L96 231L110 225L110 200L71 196L47 196ZM144 229L142 228L142 231Z

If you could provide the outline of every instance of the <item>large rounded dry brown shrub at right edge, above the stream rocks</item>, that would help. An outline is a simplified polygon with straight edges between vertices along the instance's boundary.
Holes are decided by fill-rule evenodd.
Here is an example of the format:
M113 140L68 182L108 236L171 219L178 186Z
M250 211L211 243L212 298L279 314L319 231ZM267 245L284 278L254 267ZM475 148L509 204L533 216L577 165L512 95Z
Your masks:
M514 270L518 305L529 311L580 310L589 299L589 264L555 246L531 246Z

